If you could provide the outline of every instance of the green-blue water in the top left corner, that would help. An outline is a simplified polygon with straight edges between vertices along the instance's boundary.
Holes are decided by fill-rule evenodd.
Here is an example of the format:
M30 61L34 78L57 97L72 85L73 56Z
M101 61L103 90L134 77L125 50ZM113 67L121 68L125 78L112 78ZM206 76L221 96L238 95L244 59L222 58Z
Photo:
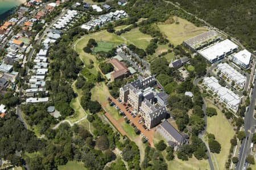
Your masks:
M20 5L19 0L0 0L0 22L13 13L14 7Z

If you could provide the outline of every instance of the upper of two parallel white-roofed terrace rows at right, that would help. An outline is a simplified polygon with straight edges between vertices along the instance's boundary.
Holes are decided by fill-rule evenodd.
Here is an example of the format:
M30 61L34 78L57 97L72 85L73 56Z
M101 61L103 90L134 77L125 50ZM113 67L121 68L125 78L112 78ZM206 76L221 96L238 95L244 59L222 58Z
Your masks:
M228 79L234 81L240 88L243 88L243 86L245 86L246 77L227 63L218 64L216 66L216 69L218 71L221 71L221 74L224 74Z

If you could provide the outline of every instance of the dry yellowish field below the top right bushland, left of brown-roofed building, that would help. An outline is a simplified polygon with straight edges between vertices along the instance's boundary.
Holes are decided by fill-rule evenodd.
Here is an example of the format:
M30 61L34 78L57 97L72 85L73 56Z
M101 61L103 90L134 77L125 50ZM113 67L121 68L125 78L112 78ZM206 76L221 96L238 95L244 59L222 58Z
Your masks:
M160 31L167 36L167 39L175 46L181 44L184 40L207 31L206 28L196 27L191 22L188 22L187 20L181 19L179 17L175 16L174 20L177 20L179 24L159 24L158 27Z

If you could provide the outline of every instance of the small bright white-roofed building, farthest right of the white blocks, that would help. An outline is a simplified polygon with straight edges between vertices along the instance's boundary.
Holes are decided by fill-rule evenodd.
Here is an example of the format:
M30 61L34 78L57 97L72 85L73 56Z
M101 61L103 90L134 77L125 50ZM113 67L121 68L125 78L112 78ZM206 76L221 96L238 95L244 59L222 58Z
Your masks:
M244 49L240 52L233 54L232 61L238 66L243 67L244 69L249 69L251 61L251 53L248 50Z

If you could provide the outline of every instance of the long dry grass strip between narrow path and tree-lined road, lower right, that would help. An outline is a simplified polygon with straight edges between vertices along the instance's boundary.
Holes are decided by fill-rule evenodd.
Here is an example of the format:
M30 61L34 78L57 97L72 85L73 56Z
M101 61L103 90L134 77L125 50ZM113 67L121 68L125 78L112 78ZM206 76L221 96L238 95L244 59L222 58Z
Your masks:
M219 169L224 169L231 147L230 139L233 138L235 132L220 109L209 103L209 101L207 101L207 107L215 108L218 113L217 116L207 117L207 132L214 134L216 141L221 145L220 154L212 154L213 164L216 167L216 162L214 161L215 156Z

